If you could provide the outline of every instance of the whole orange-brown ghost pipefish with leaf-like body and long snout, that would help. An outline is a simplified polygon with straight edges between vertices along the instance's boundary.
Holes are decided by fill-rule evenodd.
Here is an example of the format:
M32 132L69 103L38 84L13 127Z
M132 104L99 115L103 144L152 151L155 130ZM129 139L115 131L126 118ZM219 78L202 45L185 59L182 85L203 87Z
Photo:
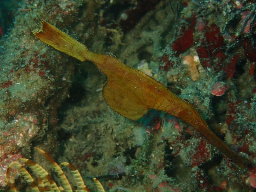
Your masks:
M108 80L103 87L103 97L117 113L131 120L142 117L148 109L165 111L187 122L225 156L240 167L245 167L247 160L232 151L219 137L209 129L203 117L190 103L172 93L163 84L130 68L110 54L91 52L66 33L42 20L40 28L32 31L39 40L80 61L93 62Z

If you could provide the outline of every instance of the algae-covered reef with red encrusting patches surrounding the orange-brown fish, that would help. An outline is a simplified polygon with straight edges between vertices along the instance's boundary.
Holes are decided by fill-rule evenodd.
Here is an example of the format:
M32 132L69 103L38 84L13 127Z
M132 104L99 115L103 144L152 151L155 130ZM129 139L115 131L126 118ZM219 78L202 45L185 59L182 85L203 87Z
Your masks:
M255 18L255 0L0 1L0 189L20 157L47 169L38 147L73 164L92 191L93 177L106 191L255 191ZM160 81L250 164L165 112L137 121L114 112L93 63L31 34L40 19Z

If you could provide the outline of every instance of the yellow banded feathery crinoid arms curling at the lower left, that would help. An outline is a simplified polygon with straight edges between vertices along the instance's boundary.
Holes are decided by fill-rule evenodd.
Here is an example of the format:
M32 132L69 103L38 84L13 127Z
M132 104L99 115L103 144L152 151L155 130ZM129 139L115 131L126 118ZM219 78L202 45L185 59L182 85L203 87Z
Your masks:
M56 173L60 181L60 186L56 184L56 182L52 179L50 174L42 166L40 166L39 164L35 163L32 160L19 158L17 159L17 161L14 161L9 165L6 172L6 181L9 184L10 191L18 191L18 188L15 185L15 170L17 170L18 175L21 177L21 179L26 182L26 191L73 191L66 175L64 174L60 166L67 167L70 170L75 183L76 191L90 191L86 187L86 185L84 185L84 181L81 177L81 174L72 164L63 162L59 166L52 159L52 157L46 152L44 152L42 149L35 149L37 152L39 152L39 154L44 156L49 167L53 170L53 172ZM31 171L31 174L20 163L27 166ZM35 178L36 181L33 179L32 176ZM105 191L102 185L100 184L99 180L97 180L96 178L93 178L93 180L97 187L97 191ZM24 190L24 188L22 190Z

